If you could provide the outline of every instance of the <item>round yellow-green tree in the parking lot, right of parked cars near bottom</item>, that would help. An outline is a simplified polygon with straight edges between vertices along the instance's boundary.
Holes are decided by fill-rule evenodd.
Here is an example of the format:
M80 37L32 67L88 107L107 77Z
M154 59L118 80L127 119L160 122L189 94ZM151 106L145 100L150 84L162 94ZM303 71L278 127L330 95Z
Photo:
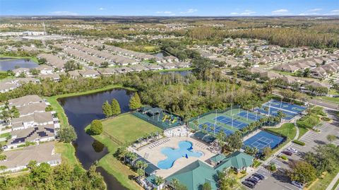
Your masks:
M288 176L292 181L309 183L316 179L316 169L307 162L298 161L292 165L292 171Z

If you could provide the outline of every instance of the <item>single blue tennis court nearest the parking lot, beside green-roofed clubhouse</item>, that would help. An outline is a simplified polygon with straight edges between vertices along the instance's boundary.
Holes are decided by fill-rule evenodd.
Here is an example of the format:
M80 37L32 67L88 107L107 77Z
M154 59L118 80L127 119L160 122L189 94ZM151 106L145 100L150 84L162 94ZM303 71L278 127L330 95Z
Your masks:
M255 136L244 141L244 146L256 147L259 152L263 150L265 147L270 147L271 149L276 148L280 143L283 143L285 138L276 136L272 133L268 133L266 131L260 131Z

